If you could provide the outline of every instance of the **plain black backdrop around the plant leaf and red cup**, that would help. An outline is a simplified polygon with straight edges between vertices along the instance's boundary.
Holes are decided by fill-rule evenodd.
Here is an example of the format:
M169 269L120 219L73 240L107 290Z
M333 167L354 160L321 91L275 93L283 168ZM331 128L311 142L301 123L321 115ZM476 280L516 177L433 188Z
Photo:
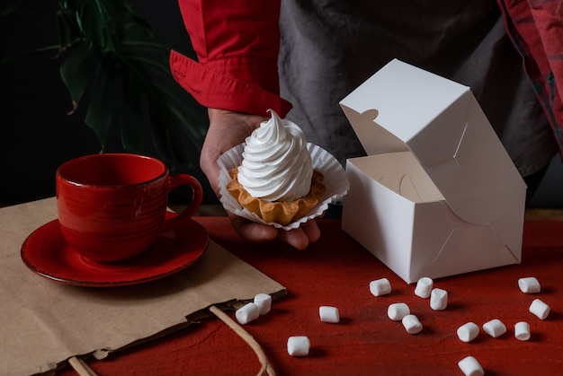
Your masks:
M190 39L176 0L131 0L130 4L173 48L190 54ZM9 57L56 45L57 8L56 0L28 0L16 13L0 19L0 54ZM70 98L58 74L60 63L53 57L53 52L47 52L0 66L0 205L54 196L54 176L60 163L100 151L94 132L84 124L84 112L66 115ZM121 151L116 135L105 151ZM180 166L175 172L195 175L204 186L205 203L217 203L199 168ZM563 166L558 155L531 206L563 208L561 187ZM182 195L176 192L172 199L182 201Z

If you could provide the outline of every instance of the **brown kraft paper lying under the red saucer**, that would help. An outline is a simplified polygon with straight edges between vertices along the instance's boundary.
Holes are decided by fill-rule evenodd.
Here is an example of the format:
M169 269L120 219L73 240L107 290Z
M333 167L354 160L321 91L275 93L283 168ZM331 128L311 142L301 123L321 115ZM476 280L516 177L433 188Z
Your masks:
M0 374L47 372L74 355L182 328L211 304L285 292L213 241L192 267L147 284L60 284L31 272L20 256L27 236L56 217L54 198L0 209Z

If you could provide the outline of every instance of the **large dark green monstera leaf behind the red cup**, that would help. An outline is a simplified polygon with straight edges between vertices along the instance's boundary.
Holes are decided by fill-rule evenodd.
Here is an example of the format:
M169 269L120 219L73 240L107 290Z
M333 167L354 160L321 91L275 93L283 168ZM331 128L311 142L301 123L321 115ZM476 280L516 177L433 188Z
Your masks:
M171 48L130 4L59 0L58 29L67 48L61 77L75 105L90 99L85 122L103 148L119 127L133 153L145 153L150 142L169 165L199 161L207 113L175 83Z

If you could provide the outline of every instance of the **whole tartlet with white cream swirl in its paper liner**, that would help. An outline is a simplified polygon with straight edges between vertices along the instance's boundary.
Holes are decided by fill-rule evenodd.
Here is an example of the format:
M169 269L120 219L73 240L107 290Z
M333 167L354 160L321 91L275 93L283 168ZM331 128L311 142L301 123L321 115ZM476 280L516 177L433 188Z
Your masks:
M219 158L221 202L229 211L257 222L299 225L344 196L348 182L332 155L308 144L295 123L270 112L272 118L261 123L245 144ZM340 179L338 193L328 192L326 185L326 172L335 171Z

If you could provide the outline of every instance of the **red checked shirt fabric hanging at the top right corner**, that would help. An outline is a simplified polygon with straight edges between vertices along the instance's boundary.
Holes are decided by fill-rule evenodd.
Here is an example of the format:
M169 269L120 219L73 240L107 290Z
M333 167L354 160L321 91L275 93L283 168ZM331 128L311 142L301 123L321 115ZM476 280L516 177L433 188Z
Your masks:
M497 0L506 31L523 57L524 70L550 120L563 153L563 3Z

